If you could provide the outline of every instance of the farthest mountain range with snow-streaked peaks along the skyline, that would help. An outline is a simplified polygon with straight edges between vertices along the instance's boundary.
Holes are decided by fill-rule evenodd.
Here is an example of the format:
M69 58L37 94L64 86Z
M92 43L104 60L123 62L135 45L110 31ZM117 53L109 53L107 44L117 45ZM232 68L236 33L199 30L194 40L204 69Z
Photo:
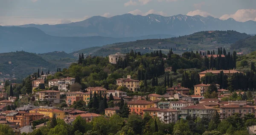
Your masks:
M138 37L151 34L171 34L176 36L209 30L235 30L254 34L256 22L238 22L232 18L220 20L211 16L187 16L178 14L164 17L156 14L146 16L123 14L110 18L94 16L89 19L58 25L28 24L19 27L35 27L46 34L61 37Z

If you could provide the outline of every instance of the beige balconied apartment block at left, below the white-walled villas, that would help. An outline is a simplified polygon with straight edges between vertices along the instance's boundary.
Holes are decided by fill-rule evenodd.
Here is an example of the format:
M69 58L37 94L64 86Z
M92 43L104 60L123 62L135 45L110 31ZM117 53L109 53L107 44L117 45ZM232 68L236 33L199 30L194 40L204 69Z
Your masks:
M60 91L56 90L44 90L40 91L39 93L39 100L40 101L49 101L51 103L60 103Z

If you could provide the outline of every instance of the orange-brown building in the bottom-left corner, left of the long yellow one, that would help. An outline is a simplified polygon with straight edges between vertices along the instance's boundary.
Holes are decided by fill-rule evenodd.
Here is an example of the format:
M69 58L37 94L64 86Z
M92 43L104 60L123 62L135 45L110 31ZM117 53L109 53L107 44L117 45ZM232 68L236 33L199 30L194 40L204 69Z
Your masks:
M6 120L10 122L16 122L20 128L23 126L31 125L32 121L39 120L44 118L43 114L37 112L10 112L6 115Z

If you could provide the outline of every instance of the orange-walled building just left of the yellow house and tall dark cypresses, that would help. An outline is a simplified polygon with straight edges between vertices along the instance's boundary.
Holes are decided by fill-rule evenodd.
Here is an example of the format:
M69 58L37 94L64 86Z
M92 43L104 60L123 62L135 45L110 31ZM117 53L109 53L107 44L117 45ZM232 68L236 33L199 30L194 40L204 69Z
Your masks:
M84 92L67 92L67 105L73 105L74 101L83 101L83 94Z

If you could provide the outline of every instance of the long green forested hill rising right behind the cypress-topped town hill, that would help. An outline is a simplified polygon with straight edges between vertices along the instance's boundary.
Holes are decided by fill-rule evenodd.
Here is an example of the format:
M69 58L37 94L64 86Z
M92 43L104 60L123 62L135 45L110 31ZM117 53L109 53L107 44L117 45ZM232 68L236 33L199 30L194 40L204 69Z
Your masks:
M162 49L163 53L167 54L169 49L172 48L177 54L189 50L213 50L218 47L225 47L227 50L230 48L230 44L235 43L238 40L250 37L245 33L239 33L236 31L204 31L196 32L194 34L185 35L181 37L172 37L165 39L147 39L137 40L133 42L114 43L97 48L83 49L77 52L84 53L85 55L100 55L106 56L115 54L116 52L127 53L131 49L137 52L146 53L152 52L156 49ZM73 52L77 53L77 52Z

